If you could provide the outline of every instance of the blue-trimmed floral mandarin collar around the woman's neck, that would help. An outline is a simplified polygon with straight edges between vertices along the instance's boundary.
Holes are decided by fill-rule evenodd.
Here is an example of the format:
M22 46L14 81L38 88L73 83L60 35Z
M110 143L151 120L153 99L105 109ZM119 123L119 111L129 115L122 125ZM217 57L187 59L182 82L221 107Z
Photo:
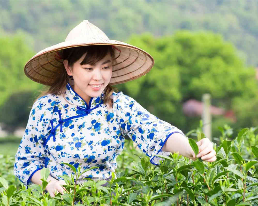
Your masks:
M103 90L100 96L90 98L89 105L87 105L87 102L84 101L84 99L82 99L80 95L73 90L72 85L74 85L74 82L72 79L70 79L69 82L66 84L66 89L64 92L64 97L69 103L85 109L90 109L104 103L104 93L106 89Z

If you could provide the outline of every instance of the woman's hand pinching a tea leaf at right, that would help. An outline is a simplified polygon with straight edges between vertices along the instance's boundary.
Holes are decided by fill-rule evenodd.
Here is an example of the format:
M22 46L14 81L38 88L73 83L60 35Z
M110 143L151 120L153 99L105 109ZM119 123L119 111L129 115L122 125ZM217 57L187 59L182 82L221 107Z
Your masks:
M213 144L208 138L203 138L200 141L196 142L199 148L199 153L195 156L193 149L190 146L190 153L193 158L201 158L203 161L206 162L214 162L217 160L216 152L213 149Z

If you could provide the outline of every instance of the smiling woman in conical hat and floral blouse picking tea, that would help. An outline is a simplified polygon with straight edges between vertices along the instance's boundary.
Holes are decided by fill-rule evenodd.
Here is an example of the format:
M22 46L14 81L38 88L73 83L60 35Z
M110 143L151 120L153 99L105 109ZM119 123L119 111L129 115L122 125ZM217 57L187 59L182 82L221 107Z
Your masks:
M108 179L128 135L150 157L170 152L213 162L216 152L208 139L197 142L195 154L183 132L164 122L134 99L111 85L145 75L154 64L145 51L110 40L87 20L76 26L65 42L37 53L25 65L32 80L49 90L32 107L20 142L14 174L25 184L41 184L40 170L50 169L46 190L63 194L62 175L72 171L62 162L82 170L97 166L79 179Z

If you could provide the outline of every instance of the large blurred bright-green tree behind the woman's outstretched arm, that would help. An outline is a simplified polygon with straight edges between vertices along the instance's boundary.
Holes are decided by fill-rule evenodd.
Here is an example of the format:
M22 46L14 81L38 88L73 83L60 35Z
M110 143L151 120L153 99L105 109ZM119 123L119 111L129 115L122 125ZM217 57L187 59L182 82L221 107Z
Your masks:
M237 126L256 126L258 112L251 109L257 101L255 69L246 68L236 49L220 35L207 32L178 31L173 36L155 38L151 34L132 36L130 44L149 52L155 59L153 69L137 80L118 85L118 89L136 99L158 118L170 122L184 132L198 126L200 117L186 117L183 102L201 101L203 93L210 93L212 103L237 113ZM252 110L252 120L239 105ZM221 117L214 118L214 129ZM224 123L229 123L224 120Z

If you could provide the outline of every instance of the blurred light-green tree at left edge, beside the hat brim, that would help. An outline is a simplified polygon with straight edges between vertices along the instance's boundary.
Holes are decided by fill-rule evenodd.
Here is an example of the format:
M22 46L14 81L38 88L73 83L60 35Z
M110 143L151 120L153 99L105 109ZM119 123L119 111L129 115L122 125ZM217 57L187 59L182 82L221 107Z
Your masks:
M33 91L41 87L24 74L24 65L33 56L24 39L21 33L0 37L0 106L14 92Z

